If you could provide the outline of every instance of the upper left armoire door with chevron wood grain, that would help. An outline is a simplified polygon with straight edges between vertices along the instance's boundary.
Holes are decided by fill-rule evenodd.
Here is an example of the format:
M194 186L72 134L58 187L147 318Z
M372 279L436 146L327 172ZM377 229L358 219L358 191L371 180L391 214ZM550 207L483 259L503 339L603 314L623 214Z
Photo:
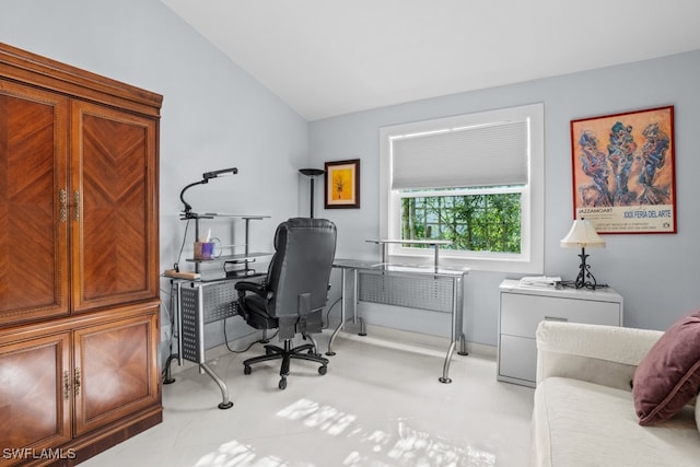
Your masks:
M0 79L0 326L69 313L68 100Z

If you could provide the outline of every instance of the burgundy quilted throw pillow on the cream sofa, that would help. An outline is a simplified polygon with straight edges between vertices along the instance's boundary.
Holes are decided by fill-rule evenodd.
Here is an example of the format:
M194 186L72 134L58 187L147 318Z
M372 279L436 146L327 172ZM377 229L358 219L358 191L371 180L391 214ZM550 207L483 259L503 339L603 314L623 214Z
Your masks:
M673 324L634 372L632 395L639 424L668 420L700 389L700 312Z

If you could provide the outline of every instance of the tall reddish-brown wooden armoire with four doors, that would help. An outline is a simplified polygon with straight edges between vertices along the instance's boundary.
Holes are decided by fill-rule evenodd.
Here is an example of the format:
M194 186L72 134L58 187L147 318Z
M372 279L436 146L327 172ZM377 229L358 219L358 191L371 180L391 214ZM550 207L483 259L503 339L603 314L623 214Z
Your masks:
M0 466L162 421L161 103L0 44Z

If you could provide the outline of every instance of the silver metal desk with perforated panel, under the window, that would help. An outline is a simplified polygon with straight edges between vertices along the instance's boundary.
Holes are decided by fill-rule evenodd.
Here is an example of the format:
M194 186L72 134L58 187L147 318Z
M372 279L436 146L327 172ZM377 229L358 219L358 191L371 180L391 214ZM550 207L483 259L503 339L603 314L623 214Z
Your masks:
M332 345L345 327L348 306L352 307L352 320L358 320L357 304L360 301L385 305L406 306L452 314L451 343L445 355L441 383L452 383L450 362L459 341L459 354L466 355L463 326L464 276L469 269L443 269L388 262L336 259L334 268L341 271L340 324L328 342L328 354L334 355ZM350 296L348 296L350 291Z

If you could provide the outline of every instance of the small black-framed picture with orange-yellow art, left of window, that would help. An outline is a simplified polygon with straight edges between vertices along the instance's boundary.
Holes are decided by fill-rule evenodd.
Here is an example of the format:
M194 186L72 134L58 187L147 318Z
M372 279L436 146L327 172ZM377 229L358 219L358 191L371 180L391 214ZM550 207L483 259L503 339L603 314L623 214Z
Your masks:
M326 162L325 168L325 208L360 208L360 160Z

